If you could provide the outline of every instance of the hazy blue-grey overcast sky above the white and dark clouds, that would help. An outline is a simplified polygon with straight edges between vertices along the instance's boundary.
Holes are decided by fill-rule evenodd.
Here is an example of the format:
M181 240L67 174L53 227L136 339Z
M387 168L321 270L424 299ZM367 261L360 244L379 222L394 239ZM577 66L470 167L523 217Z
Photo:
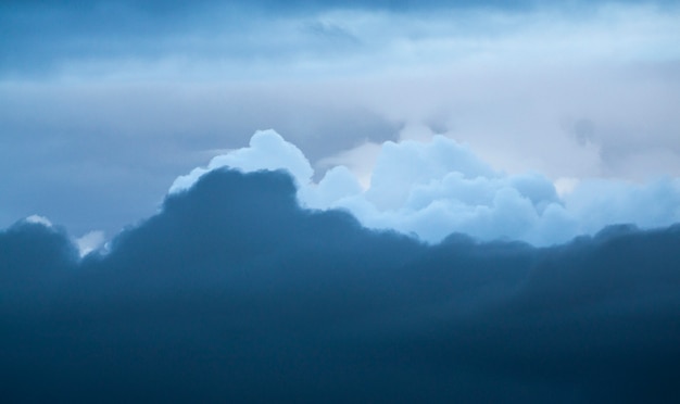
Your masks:
M677 177L673 3L5 1L0 226L112 237L269 128L314 181L436 134L559 192Z

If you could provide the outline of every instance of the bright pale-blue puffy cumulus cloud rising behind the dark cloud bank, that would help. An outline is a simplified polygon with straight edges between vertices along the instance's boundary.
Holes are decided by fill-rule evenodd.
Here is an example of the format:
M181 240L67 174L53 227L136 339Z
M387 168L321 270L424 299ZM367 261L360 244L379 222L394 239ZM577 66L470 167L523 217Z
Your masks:
M365 146L361 146L360 150ZM326 161L354 163L355 153ZM605 226L630 223L642 228L680 222L680 180L647 184L613 179L555 181L538 173L506 174L479 159L467 146L436 135L427 141L381 144L369 186L339 164L315 184L303 153L274 130L256 132L250 147L214 157L206 168L179 177L171 192L186 189L210 169L289 171L298 198L313 209L342 207L364 226L415 233L439 242L453 232L480 240L511 239L536 245L594 235ZM361 174L360 174L361 175Z

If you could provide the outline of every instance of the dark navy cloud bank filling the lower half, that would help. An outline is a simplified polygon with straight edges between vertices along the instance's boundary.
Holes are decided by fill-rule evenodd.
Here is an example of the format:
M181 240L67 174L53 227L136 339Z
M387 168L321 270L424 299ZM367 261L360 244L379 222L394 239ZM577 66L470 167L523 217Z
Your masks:
M0 232L4 402L672 402L680 227L428 247L216 171L105 255Z

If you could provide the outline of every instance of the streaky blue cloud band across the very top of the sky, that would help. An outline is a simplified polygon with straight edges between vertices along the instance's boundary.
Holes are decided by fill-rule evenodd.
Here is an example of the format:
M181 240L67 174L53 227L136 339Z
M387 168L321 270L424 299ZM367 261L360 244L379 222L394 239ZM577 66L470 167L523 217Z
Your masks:
M677 56L669 1L13 2L0 18L2 78L174 81L380 74L489 54Z

